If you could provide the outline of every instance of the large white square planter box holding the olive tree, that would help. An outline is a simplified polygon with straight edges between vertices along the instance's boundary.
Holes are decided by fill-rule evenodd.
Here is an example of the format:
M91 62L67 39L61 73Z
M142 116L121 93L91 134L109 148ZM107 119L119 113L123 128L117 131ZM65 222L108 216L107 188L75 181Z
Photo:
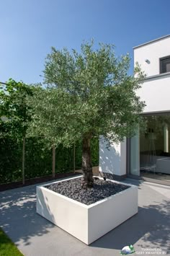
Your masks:
M71 179L75 177L66 180ZM90 206L48 190L45 186L51 183L37 186L37 213L85 244L91 244L138 213L138 187L117 183L130 187Z

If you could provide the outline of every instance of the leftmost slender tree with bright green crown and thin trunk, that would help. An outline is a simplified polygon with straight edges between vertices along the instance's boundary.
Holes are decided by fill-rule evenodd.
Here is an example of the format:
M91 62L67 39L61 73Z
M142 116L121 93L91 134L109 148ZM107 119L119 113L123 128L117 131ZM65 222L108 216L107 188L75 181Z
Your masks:
M25 137L31 112L27 105L27 96L32 96L33 88L22 81L9 81L0 91L0 137L22 140L22 183L24 184Z

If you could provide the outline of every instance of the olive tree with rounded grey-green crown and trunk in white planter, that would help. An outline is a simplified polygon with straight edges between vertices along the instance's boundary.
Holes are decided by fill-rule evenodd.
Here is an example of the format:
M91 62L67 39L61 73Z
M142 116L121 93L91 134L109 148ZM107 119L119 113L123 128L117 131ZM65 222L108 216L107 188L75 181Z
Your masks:
M83 43L81 51L56 50L45 59L46 89L37 89L30 131L50 145L82 141L82 187L93 186L91 138L104 136L107 146L133 134L144 102L136 95L143 72L128 74L130 57L117 57L114 45Z

